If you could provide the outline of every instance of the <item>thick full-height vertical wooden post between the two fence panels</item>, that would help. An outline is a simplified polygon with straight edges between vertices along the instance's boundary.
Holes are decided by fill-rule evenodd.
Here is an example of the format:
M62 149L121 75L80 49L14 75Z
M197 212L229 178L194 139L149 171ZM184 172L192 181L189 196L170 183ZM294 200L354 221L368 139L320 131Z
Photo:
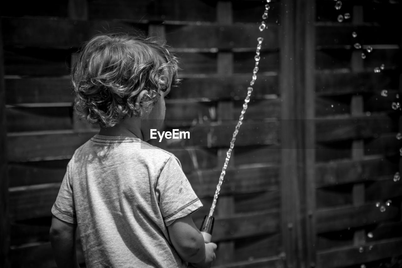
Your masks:
M286 265L315 266L315 1L281 6L281 202Z

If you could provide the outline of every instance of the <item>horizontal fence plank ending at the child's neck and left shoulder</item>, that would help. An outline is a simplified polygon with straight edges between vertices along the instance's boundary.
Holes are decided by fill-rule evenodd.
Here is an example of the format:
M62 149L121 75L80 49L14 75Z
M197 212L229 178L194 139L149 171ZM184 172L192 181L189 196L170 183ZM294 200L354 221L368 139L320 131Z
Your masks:
M96 132L32 132L8 134L8 161L41 161L69 159L74 151L94 136Z

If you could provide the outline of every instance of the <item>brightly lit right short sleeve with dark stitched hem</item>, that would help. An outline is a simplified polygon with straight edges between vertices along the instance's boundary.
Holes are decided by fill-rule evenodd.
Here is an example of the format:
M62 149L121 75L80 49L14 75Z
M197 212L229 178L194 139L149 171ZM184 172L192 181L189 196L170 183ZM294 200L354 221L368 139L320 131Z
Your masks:
M159 208L166 226L202 207L202 203L173 155L164 165L156 184Z

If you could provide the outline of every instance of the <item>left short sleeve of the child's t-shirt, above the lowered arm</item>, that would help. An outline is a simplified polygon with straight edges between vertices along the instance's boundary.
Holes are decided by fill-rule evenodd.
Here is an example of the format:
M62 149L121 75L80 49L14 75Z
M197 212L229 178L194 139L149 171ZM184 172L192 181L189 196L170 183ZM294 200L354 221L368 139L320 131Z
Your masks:
M57 195L56 201L51 208L51 212L55 217L62 221L76 224L77 216L74 206L73 188L70 183L71 162L72 161L70 161L70 163L67 165L66 175L64 175L59 194Z

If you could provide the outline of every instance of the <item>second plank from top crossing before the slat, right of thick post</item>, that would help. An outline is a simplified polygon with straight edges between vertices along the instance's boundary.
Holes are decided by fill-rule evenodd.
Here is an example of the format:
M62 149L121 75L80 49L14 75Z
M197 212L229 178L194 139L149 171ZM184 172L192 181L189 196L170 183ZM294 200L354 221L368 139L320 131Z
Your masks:
M380 73L319 72L316 74L316 94L345 95L398 89L399 75L397 70L384 70Z

